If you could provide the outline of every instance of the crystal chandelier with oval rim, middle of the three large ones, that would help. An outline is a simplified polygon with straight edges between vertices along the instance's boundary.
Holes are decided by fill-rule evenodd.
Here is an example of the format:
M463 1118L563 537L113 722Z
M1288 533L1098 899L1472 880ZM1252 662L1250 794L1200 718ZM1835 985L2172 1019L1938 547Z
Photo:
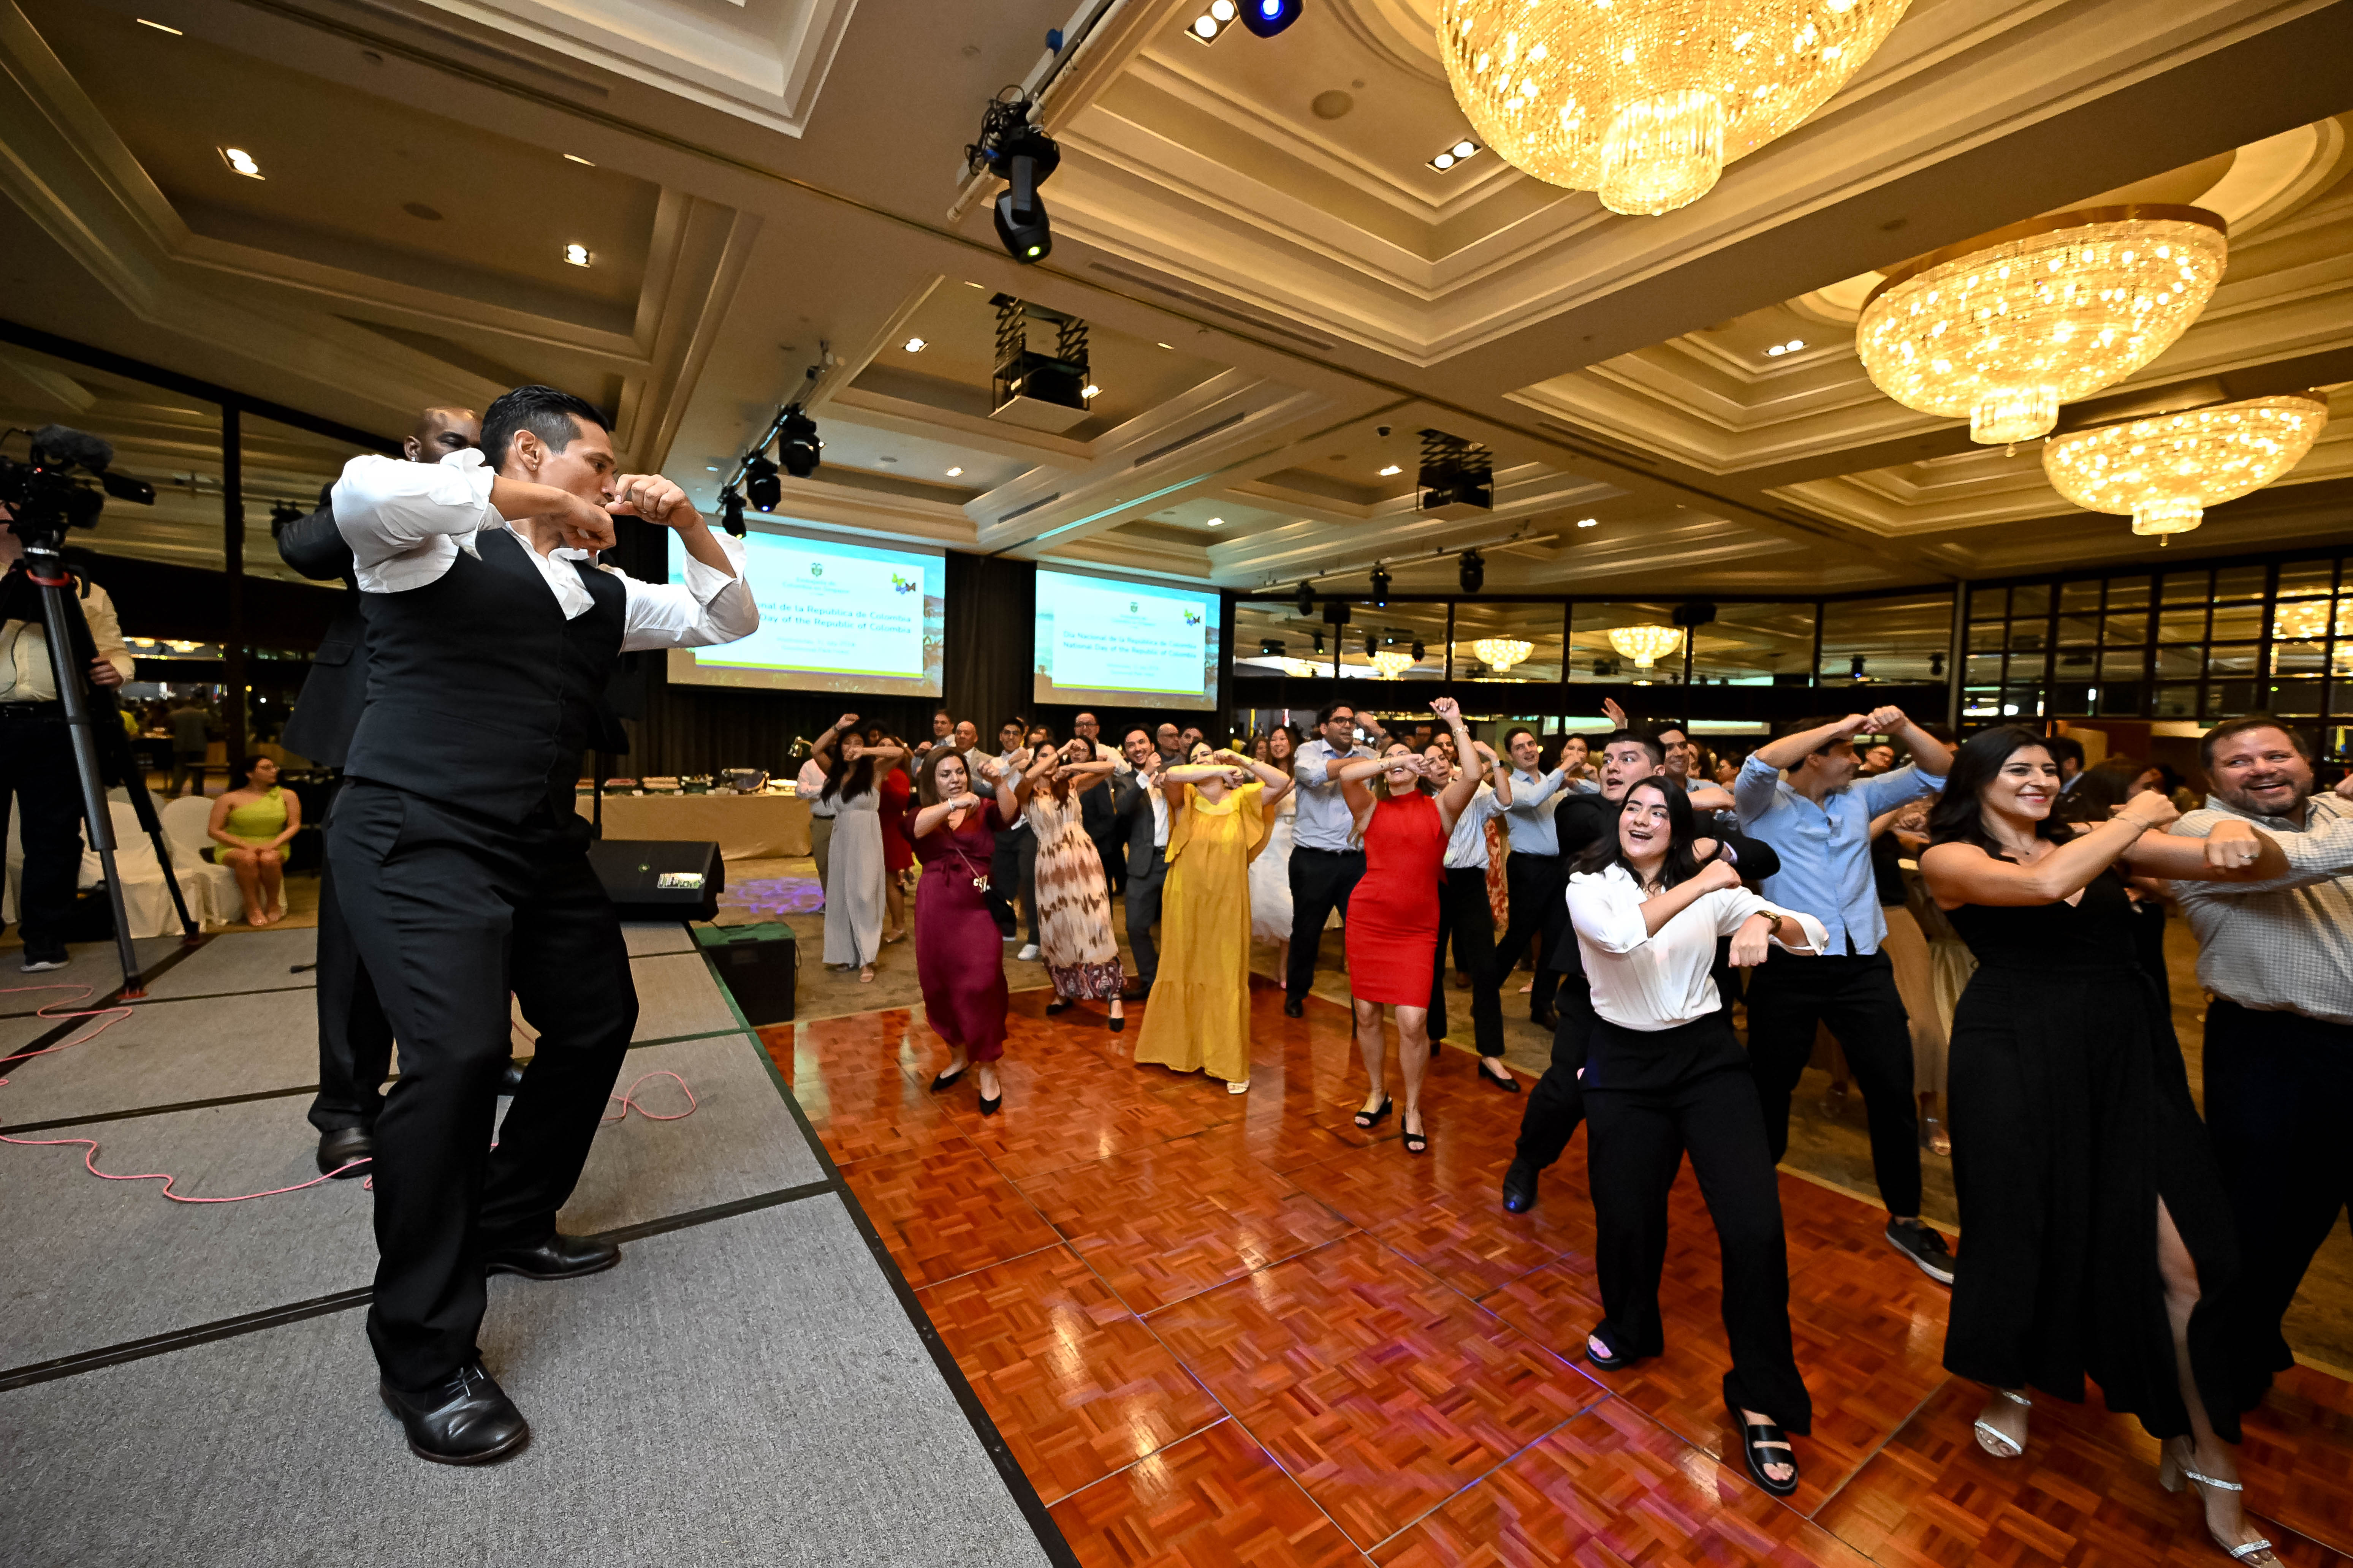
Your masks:
M2049 435L2059 404L2115 386L2205 310L2228 247L2202 207L2094 207L2000 228L1897 268L1854 348L1906 409L1991 447Z

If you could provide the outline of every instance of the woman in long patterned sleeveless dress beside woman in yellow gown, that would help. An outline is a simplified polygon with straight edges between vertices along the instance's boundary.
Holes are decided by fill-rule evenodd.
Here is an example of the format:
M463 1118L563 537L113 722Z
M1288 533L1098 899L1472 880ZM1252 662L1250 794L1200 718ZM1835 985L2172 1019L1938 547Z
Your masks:
M1120 992L1127 973L1120 969L1120 938L1111 931L1111 891L1078 806L1078 797L1111 778L1118 764L1099 762L1092 741L1040 748L1019 762L1019 773L998 778L998 811L1007 818L1026 811L1038 839L1038 947L1054 978L1054 999L1045 1011L1108 1001L1113 1032L1125 1030Z

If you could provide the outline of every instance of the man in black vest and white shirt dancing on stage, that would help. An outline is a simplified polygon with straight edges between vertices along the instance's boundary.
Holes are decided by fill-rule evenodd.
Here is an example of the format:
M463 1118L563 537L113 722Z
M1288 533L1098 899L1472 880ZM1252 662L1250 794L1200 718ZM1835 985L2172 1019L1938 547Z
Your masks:
M332 505L369 672L327 853L400 1037L367 1338L409 1450L480 1465L529 1436L475 1345L485 1269L572 1279L621 1258L555 1232L638 1023L572 806L598 698L624 651L734 642L760 611L741 550L668 480L616 475L602 414L544 386L489 404L482 451L353 458ZM675 529L685 585L595 567L612 517ZM492 1150L508 994L539 1048Z

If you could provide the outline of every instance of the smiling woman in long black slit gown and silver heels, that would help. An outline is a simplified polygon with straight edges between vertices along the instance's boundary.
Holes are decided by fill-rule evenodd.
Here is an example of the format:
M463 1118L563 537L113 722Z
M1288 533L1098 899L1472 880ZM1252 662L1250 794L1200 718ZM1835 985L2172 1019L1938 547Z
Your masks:
M1979 961L1953 1013L1962 1253L1944 1366L1993 1389L1977 1441L1995 1458L2026 1453L2026 1387L2080 1401L2089 1375L2165 1441L2158 1481L2198 1483L2217 1544L2271 1563L2231 1455L2231 1208L2120 872L2261 879L2285 856L2245 823L2155 832L2179 816L2158 792L2085 825L2054 820L2057 797L2040 736L1986 731L1953 757L1920 856Z

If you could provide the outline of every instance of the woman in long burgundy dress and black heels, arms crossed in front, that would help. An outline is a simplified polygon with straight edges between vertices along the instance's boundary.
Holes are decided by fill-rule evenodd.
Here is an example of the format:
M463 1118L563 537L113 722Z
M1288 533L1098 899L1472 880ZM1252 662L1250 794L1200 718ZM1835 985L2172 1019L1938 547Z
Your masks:
M1005 938L988 912L988 856L998 846L998 806L972 792L965 755L946 745L915 776L918 811L906 837L922 858L915 889L915 978L932 1030L948 1041L939 1093L979 1067L981 1114L998 1114L998 1058L1005 1056Z

